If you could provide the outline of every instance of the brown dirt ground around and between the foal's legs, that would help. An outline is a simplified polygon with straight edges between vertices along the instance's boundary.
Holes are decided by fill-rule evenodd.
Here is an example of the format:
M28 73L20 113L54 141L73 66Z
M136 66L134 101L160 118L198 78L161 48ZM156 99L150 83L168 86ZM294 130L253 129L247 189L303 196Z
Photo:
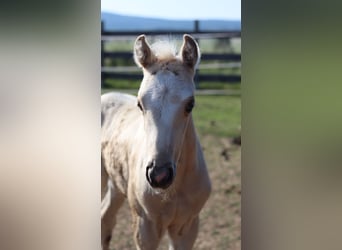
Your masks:
M200 214L200 229L194 249L241 249L241 147L231 138L200 138L212 194ZM112 250L135 249L127 202L120 209L111 242ZM167 238L159 249L168 249Z

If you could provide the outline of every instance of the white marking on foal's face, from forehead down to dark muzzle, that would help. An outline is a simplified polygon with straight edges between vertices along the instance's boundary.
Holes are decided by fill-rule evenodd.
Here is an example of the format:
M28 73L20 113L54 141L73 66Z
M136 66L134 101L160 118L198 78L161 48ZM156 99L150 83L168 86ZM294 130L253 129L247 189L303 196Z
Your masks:
M171 71L145 74L138 98L143 106L146 161L176 163L188 116L186 101L194 95L194 84Z

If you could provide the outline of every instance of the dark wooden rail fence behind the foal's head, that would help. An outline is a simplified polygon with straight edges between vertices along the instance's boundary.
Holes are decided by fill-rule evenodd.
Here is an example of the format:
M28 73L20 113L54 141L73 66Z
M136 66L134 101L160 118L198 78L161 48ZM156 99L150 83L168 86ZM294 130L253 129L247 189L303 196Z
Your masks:
M184 33L191 34L199 43L201 39L231 39L236 37L241 37L240 31L215 31L215 32L202 32L198 29L198 21L195 21L194 30L190 32L189 30L184 31L146 31L145 35L148 36L160 36L166 35L183 35ZM135 66L122 66L122 67L106 67L104 61L109 59L132 59L132 51L116 51L109 52L104 50L104 44L107 41L115 41L120 39L135 39L142 32L112 32L105 31L102 29L101 34L101 78L102 87L104 87L104 82L106 79L132 79L139 80L142 79L142 73ZM223 73L201 73L204 69L227 69L227 68L240 68L241 66L241 54L234 53L204 53L201 56L201 65L199 70L197 70L195 76L195 82L197 87L200 87L201 82L222 82L227 84L236 84L241 82L241 74L223 74ZM204 63L205 62L205 63ZM208 70L207 70L208 71ZM240 71L239 71L240 72Z

